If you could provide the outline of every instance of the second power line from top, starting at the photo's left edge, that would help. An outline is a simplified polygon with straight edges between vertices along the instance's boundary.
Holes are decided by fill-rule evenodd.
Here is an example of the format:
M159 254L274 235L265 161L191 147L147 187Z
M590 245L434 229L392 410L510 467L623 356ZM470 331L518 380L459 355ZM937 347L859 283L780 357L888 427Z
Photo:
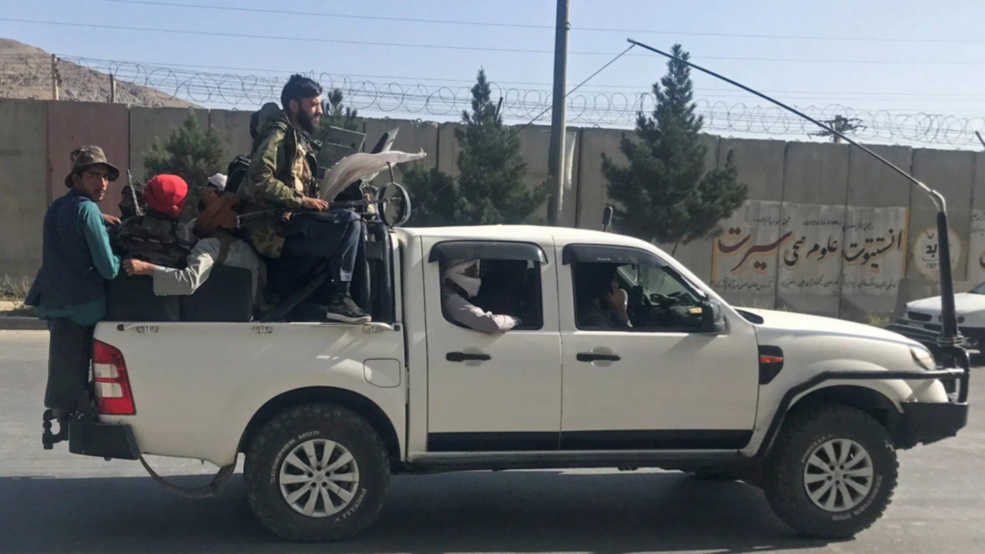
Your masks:
M327 42L333 44L358 44L361 46L389 46L399 48L432 48L441 50L477 50L486 52L511 52L521 54L554 54L554 50L531 50L523 48L491 48L482 46L462 46L447 44L404 44L396 42L367 42L361 40L340 40L335 38L311 38L306 36L277 36L277 35L239 35L233 33L219 33L216 31L188 31L178 29L154 29L146 27L122 27L115 25L97 25L89 23L69 23L34 21L11 18L0 18L0 22L27 23L33 25L53 25L61 27L81 27L87 29L109 29L113 31L138 31L141 33L166 33L168 35L206 35L206 36L227 36L235 38L267 39L267 40L294 40L300 42ZM572 55L587 56L613 56L612 52L569 52ZM651 57L646 54L626 54L627 56ZM758 57L739 57L739 56L703 56L692 55L695 59L713 60L732 60L732 61L768 61L768 62L795 62L795 63L838 63L838 64L902 64L902 65L985 65L985 61L913 61L913 60L844 60L844 59L806 59L806 58L758 58Z

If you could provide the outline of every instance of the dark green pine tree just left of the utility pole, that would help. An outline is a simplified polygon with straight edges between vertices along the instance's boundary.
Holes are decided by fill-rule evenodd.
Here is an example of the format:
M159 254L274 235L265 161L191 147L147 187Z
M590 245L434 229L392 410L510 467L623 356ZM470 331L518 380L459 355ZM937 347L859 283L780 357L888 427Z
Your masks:
M422 165L404 173L414 204L410 225L534 223L535 214L547 201L549 183L533 191L527 187L520 139L503 124L499 109L493 104L486 71L480 69L472 88L472 111L462 112L463 127L455 129L461 149L456 160L461 173L457 182Z

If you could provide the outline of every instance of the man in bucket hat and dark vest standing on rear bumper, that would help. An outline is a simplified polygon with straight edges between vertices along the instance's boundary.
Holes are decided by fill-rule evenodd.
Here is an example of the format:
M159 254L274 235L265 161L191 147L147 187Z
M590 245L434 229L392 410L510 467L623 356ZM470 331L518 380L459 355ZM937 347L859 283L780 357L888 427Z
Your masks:
M96 205L120 172L98 146L78 148L70 159L72 171L65 176L70 190L44 214L41 268L26 301L48 321L44 406L59 420L89 404L93 328L106 311L105 282L120 266L105 230L118 220L103 216Z

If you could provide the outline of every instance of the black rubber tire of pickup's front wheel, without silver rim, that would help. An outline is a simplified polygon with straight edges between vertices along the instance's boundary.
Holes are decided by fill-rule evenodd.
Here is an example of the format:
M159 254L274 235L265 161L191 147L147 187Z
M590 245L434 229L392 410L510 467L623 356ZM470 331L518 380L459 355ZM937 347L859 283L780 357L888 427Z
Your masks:
M874 476L869 493L854 508L826 512L805 489L809 456L824 443L847 439L865 449ZM882 517L896 487L898 462L886 428L869 414L846 406L811 408L783 424L764 474L766 500L773 513L797 531L828 539L851 538Z

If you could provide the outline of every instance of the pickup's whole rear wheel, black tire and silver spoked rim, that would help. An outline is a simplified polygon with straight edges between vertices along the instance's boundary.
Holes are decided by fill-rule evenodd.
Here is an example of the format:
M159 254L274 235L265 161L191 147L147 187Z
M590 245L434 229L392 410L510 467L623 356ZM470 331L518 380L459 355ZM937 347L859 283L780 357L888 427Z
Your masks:
M358 414L303 404L275 416L256 435L243 481L253 513L276 535L338 541L376 519L390 466L383 442Z

